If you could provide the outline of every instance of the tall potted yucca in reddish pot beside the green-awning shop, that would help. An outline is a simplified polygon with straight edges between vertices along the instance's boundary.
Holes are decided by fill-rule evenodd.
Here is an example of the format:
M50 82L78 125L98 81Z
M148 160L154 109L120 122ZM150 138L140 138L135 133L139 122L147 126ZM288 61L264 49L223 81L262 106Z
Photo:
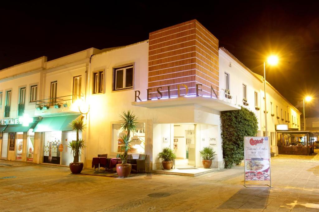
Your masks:
M77 140L72 140L69 142L69 147L71 148L71 153L73 153L73 163L70 163L69 167L73 174L81 173L83 169L83 163L79 162L79 156L81 150L84 149L84 140L79 139L79 131L83 132L85 124L82 119L73 120L70 124L73 130L77 132Z

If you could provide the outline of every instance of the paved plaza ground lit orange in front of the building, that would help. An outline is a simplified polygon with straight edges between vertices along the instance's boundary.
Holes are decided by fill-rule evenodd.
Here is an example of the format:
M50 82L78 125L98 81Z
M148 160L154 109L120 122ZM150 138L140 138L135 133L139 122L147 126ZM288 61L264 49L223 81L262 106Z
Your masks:
M0 167L0 178L15 177L0 179L0 211L319 211L319 161L314 158L275 157L273 188L243 187L242 166L198 177L120 179L0 160L13 165ZM157 192L170 196L148 196Z

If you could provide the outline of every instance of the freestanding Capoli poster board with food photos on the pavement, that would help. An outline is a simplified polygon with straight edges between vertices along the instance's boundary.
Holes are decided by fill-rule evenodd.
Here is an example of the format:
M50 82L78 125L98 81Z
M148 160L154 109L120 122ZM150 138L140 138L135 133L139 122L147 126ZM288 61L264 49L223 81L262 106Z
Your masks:
M244 140L245 181L269 181L269 137L247 136Z

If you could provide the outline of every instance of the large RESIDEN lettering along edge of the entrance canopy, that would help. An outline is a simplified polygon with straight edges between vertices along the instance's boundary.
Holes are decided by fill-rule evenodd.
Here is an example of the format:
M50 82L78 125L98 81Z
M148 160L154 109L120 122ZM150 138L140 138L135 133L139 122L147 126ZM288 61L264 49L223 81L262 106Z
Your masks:
M180 90L181 90L181 86L185 88L185 95L184 95L184 96L186 96L186 95L188 94L188 87L187 87L187 85L180 84L180 85L177 85L177 95L178 95L178 97L181 97L181 96L182 96L182 95L181 95L181 91L180 91ZM196 96L200 96L200 95L199 95L199 91L203 92L203 91L202 91L202 88L199 87L199 86L203 86L203 84L196 84ZM151 88L146 89L146 92L147 92L146 99L147 99L147 100L151 100L151 98L150 98L150 96L151 96L151 93L150 93L151 90L152 90ZM170 85L167 86L167 92L168 92L168 98L171 98ZM158 88L157 88L157 93L158 93L157 99L163 98L162 87L158 87ZM135 101L136 101L136 102L137 102L137 99L138 99L139 101L142 101L142 99L139 97L140 94L141 94L140 91L135 91ZM213 88L213 86L211 86L211 98L212 98L212 95L213 95L213 94L215 95L216 98L218 98L218 97L217 97L217 94L216 94L216 92L215 92L215 90L214 90L214 88Z

